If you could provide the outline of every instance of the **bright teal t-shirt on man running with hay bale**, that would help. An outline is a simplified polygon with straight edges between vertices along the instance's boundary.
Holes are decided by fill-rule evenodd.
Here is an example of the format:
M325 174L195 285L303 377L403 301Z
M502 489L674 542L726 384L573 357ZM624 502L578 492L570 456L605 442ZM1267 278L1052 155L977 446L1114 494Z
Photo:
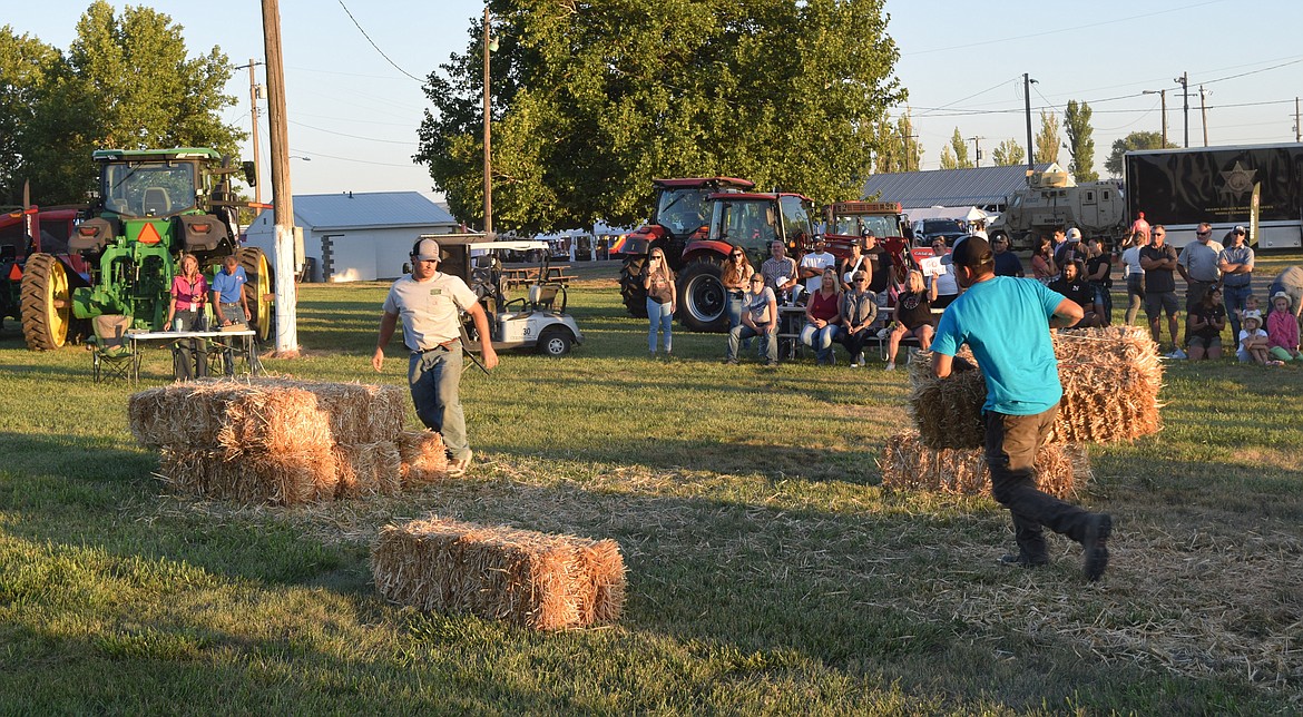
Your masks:
M1042 413L1063 398L1049 329L1062 301L1062 295L1032 279L979 282L946 306L932 351L954 356L963 344L972 348L986 375L982 409Z

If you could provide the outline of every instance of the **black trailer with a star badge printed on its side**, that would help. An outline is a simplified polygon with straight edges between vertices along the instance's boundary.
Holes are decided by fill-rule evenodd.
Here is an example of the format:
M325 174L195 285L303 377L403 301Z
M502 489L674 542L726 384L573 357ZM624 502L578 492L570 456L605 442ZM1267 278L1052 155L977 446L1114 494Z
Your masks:
M1143 150L1126 154L1127 214L1144 212L1167 228L1175 246L1195 240L1200 222L1213 239L1250 226L1253 186L1261 185L1259 236L1263 249L1303 246L1303 143Z

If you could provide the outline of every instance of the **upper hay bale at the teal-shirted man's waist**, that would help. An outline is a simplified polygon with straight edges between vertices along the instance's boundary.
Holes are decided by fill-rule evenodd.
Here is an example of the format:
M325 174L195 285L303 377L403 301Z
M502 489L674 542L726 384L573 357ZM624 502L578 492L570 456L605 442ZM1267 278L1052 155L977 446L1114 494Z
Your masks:
M1057 331L1053 342L1063 399L1049 442L1134 441L1162 429L1158 412L1162 361L1147 330L1110 326ZM960 356L972 361L967 347ZM909 382L908 408L924 445L930 448L982 445L986 382L980 369L938 379L932 375L932 355L920 352L909 362Z

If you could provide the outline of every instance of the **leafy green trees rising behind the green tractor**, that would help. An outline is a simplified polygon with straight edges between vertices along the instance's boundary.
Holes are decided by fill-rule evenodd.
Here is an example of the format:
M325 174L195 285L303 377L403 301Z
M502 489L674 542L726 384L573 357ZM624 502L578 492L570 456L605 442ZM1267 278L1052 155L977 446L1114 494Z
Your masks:
M236 102L223 93L232 74L225 55L214 47L189 57L181 26L167 14L129 7L119 16L96 0L66 53L16 42L8 27L0 35L8 35L0 46L26 48L0 50L0 77L21 82L5 82L0 102L21 98L30 108L0 151L0 194L30 180L40 203L76 202L94 186L95 149L210 146L235 154L244 138L222 121ZM39 70L14 72L10 60L23 52L39 60Z

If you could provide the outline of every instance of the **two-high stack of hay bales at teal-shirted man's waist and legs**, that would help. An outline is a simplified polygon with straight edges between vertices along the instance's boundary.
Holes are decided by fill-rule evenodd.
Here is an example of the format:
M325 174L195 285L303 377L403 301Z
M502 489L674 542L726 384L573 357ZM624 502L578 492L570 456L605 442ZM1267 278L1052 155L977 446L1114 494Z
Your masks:
M1079 443L1131 441L1157 433L1162 362L1148 331L1134 326L1059 331L1053 335L1063 399L1049 443L1068 445L1072 458L1042 448L1037 454L1037 482L1042 490L1062 488L1089 476ZM967 347L959 357L976 361ZM981 370L956 370L946 379L932 374L932 356L919 353L909 364L909 415L917 433L891 437L883 459L882 484L900 488L971 491L989 489L981 458L981 407L986 381ZM928 451L936 451L930 455ZM1074 469L1075 467L1075 469Z

